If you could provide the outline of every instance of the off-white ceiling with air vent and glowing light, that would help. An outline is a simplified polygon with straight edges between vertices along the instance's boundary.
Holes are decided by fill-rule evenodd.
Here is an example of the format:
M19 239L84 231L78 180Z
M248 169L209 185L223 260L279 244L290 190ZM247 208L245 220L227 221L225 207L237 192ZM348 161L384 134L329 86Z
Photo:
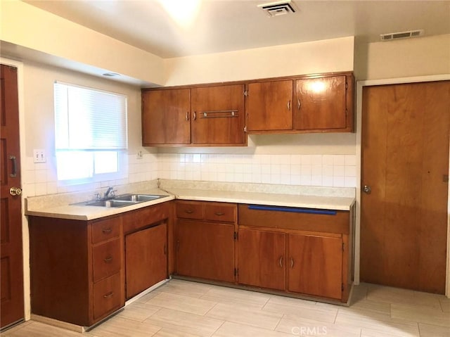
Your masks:
M269 18L257 5L273 1L202 0L186 28L158 0L25 2L162 58L347 36L376 42L380 34L405 30L450 33L450 1L293 0L296 13Z

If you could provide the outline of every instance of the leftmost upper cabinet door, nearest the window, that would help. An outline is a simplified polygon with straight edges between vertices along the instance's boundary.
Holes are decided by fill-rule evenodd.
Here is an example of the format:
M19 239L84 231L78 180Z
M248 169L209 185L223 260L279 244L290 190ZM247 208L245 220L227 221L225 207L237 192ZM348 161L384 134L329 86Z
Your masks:
M191 143L189 89L143 91L142 144Z

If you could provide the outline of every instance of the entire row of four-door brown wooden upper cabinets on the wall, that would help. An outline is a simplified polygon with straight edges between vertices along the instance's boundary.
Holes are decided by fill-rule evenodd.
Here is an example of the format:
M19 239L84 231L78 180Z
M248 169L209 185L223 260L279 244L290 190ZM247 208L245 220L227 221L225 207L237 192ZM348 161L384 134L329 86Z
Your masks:
M143 146L246 146L245 129L354 132L352 72L142 90Z

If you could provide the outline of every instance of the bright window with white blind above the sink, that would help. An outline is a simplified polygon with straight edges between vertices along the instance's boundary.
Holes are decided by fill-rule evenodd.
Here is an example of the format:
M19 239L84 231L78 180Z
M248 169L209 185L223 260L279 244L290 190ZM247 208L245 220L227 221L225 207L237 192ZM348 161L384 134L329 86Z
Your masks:
M81 184L126 176L127 96L56 82L58 181Z

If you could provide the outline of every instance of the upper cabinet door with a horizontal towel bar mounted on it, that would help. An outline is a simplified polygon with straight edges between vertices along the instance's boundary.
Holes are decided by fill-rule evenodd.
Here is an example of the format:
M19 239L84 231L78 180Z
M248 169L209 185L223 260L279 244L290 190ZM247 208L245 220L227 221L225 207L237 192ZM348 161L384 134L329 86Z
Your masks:
M191 89L192 144L245 145L244 85Z

